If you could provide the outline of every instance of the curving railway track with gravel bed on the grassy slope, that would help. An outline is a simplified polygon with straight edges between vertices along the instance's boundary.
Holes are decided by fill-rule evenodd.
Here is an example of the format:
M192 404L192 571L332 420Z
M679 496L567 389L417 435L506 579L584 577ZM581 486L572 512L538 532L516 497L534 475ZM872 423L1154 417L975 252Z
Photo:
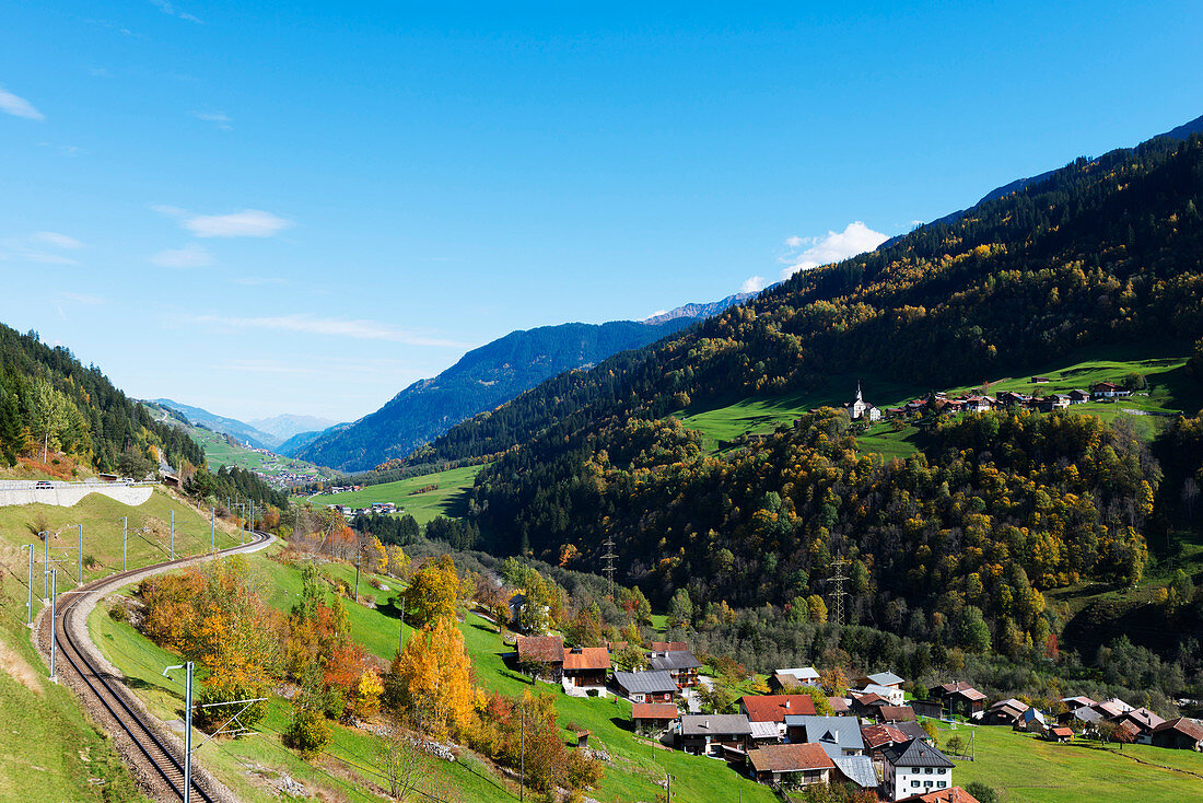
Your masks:
M85 618L87 610L90 610L91 606L85 606L84 601L89 598L97 600L105 594L141 577L155 574L177 566L224 555L255 551L262 549L271 539L272 537L267 533L256 532L254 541L241 547L220 550L213 555L165 561L153 566L118 572L81 586L58 607L54 642L60 659L65 659L65 665L59 665L60 671L69 667L69 673L73 675L72 679L78 680L73 686L84 705L97 714L99 719L107 720L106 726L114 737L119 732L132 743L134 749L126 758L141 766L146 772L143 780L164 792L165 796L162 799L172 801L183 799L184 797L183 746L174 739L162 734L161 724L158 719L149 715L140 703L134 701L131 692L119 678L97 666L97 661L93 657L94 648L87 636ZM205 773L197 773L195 764L192 769L191 799L205 801L206 803L215 803L217 801L225 799L225 796L219 796L218 792L211 789L211 783L206 780Z

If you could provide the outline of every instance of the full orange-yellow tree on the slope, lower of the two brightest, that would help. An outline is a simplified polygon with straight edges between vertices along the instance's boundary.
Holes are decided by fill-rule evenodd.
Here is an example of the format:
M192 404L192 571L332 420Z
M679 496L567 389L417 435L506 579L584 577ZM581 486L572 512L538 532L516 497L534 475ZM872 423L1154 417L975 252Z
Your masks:
M414 633L389 668L386 702L435 739L472 724L481 692L455 620L442 616Z

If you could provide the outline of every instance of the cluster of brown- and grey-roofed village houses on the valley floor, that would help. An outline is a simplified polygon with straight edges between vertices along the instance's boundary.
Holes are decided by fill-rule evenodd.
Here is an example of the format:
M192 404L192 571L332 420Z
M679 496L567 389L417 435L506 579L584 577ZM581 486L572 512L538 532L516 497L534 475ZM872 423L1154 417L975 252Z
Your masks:
M510 601L516 628L522 595ZM972 761L970 733L960 752L936 743L932 721L1011 727L1049 742L1081 736L1137 742L1166 749L1203 750L1203 724L1163 720L1121 699L1065 697L1059 710L1041 712L1019 699L988 704L986 696L958 680L903 691L906 680L882 671L848 679L840 693L814 667L775 671L771 693L745 695L736 713L704 713L698 695L712 679L685 642L653 642L640 651L646 668L621 671L626 642L568 646L561 636L517 636L506 660L520 672L559 684L577 697L617 696L633 703L630 727L639 736L703 758L725 761L734 770L780 791L812 784L847 783L883 801L974 803L956 786L958 761ZM923 720L928 720L924 722ZM579 746L589 732L576 733ZM946 750L953 740L946 743Z

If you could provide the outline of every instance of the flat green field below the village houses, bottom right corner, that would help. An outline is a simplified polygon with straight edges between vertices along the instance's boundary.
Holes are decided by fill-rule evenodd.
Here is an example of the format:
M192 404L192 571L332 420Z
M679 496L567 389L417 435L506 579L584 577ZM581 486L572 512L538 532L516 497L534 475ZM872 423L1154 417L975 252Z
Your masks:
M1127 757L1203 773L1203 756L1189 750L1127 745L1121 756L1097 742L1053 744L1006 727L961 727L956 733L966 740L974 734L977 761L956 762L953 783L989 784L1005 790L1007 803L1177 803L1203 796L1203 780ZM950 732L940 736L943 743Z

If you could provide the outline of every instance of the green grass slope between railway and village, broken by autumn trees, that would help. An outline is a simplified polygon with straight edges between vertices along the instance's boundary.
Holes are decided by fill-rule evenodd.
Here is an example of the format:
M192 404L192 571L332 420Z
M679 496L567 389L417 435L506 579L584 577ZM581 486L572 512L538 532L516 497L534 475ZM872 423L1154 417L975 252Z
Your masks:
M286 609L300 595L300 572L262 556L251 559L253 563L271 583L272 604ZM340 577L354 583L354 569L344 566L327 567L332 577ZM381 578L389 584L387 578ZM367 585L362 590L379 595L381 598L390 592L379 592ZM349 616L354 637L369 651L381 659L391 659L397 649L399 637L398 621L390 616L392 609L369 609L363 606L349 604ZM105 654L129 677L134 678L135 687L140 689L149 702L152 710L165 718L177 718L180 708L178 689L166 684L159 677L161 667L171 662L172 656L154 646L128 625L117 624L103 612L94 613L90 626ZM461 630L464 643L476 669L478 681L490 691L503 693L521 693L531 689L529 681L505 668L500 653L506 648L493 628L484 619L469 615ZM658 750L653 763L651 746L646 742L636 742L627 730L630 719L630 704L618 701L580 699L564 696L558 686L538 685L538 691L556 696L561 725L575 724L593 732L592 744L604 745L611 754L615 766L606 770L599 790L591 797L609 803L611 801L648 801L654 799L657 786L653 781L664 777L664 767L672 773L674 792L677 799L698 801L699 803L724 803L740 796L745 801L775 799L768 789L739 777L722 762L685 756L680 752ZM265 724L268 731L262 737L242 739L235 743L223 743L220 749L213 745L205 749L202 761L214 769L224 780L231 783L239 796L248 801L273 799L262 790L248 781L242 767L243 761L255 761L266 767L288 772L307 784L318 784L348 793L348 786L340 779L332 778L322 769L309 767L294 754L284 749L277 733L288 722L288 705L274 703ZM358 731L334 726L336 739L330 751L357 766L371 763L371 738ZM568 739L568 731L564 731ZM488 769L474 761L456 764L439 764L446 780L461 791L468 801L511 801L516 790L497 779ZM678 790L678 792L677 792ZM358 795L357 798L367 798Z

